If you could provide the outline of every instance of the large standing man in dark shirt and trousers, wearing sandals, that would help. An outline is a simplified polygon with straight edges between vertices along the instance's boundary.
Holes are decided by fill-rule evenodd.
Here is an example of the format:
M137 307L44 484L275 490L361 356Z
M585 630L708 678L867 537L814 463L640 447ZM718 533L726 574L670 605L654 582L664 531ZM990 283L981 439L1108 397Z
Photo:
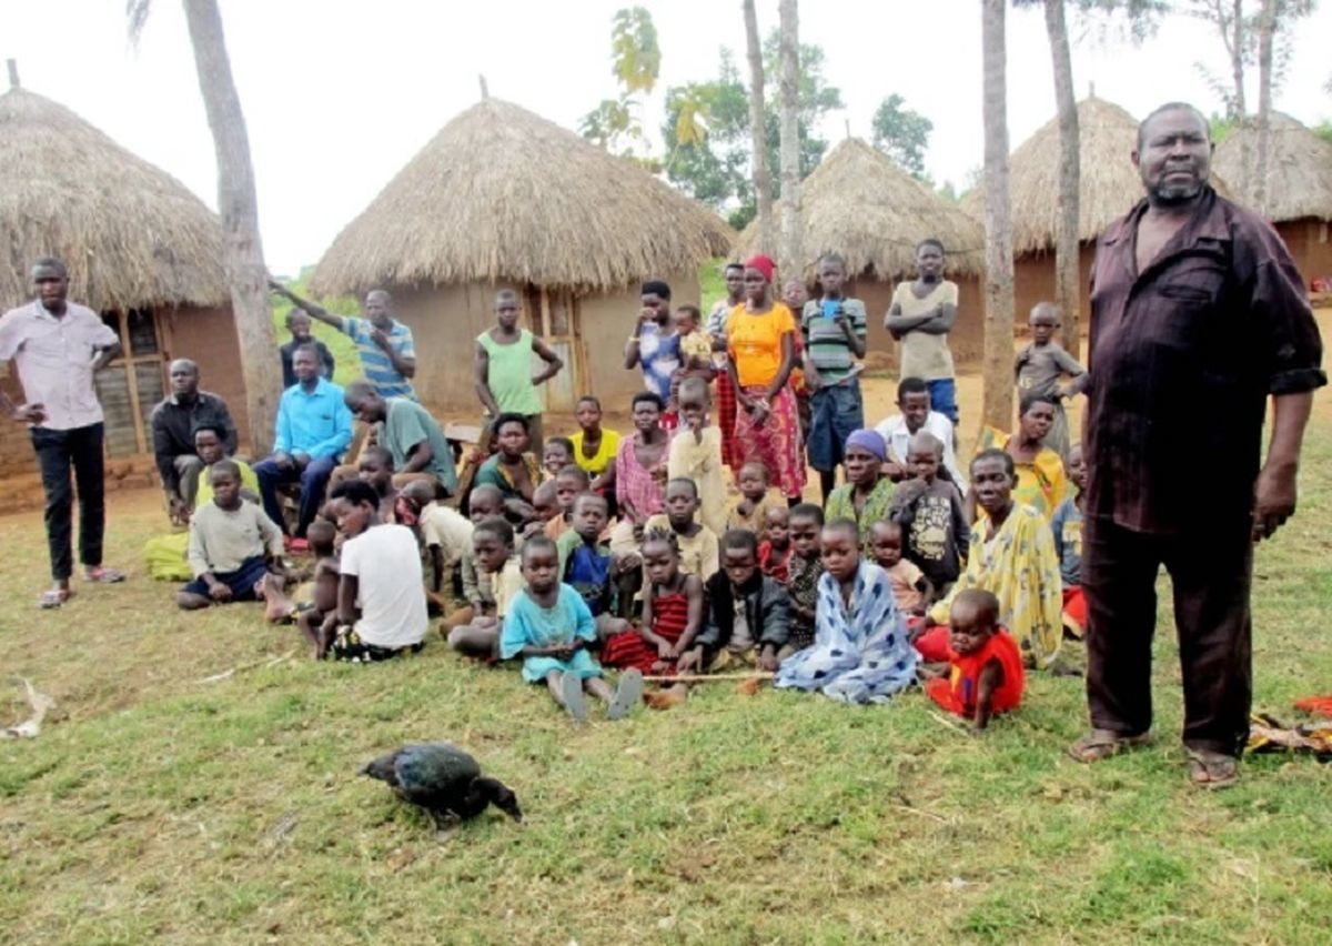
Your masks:
M1192 105L1147 116L1132 155L1147 200L1096 248L1083 542L1094 729L1071 753L1092 762L1148 738L1164 565L1189 779L1216 789L1237 781L1248 737L1253 544L1295 512L1300 442L1327 376L1289 253L1208 187L1211 157Z

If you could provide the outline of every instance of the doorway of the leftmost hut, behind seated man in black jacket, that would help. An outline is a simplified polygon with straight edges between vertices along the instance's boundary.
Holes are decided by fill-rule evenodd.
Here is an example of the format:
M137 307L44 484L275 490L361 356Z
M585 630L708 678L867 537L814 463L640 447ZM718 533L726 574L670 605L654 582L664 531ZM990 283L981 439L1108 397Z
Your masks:
M101 320L120 336L120 356L97 372L97 400L107 426L107 456L152 453L148 418L166 396L163 340L152 309L104 312Z

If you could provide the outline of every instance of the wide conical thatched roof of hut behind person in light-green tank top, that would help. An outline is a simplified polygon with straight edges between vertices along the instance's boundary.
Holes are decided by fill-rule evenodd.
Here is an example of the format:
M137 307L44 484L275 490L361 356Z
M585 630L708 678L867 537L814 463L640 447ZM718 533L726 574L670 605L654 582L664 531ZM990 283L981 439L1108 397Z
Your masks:
M497 99L445 125L333 241L312 288L521 281L619 289L730 249L711 211Z

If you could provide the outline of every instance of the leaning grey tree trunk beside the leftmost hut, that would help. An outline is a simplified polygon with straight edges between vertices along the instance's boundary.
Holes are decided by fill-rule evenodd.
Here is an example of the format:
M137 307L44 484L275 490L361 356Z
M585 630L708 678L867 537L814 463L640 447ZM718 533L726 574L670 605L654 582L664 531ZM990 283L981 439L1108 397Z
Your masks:
M222 262L232 290L232 314L240 341L241 378L249 416L249 444L268 453L282 392L273 313L268 301L268 266L258 235L258 200L249 136L226 57L226 39L217 0L184 0L189 40L194 47L198 91L208 112L217 152L217 211L222 217Z

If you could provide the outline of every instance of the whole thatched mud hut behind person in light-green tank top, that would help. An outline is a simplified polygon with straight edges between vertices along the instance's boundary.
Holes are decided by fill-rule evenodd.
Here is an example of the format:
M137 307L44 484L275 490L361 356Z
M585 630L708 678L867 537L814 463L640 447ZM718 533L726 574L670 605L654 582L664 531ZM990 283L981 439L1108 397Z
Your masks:
M393 292L412 326L416 386L446 414L474 417L474 338L494 324L496 286L523 300L529 329L565 360L547 410L582 393L607 408L642 389L621 350L638 282L698 300L698 265L730 249L717 215L531 112L485 99L457 116L333 241L320 293Z

